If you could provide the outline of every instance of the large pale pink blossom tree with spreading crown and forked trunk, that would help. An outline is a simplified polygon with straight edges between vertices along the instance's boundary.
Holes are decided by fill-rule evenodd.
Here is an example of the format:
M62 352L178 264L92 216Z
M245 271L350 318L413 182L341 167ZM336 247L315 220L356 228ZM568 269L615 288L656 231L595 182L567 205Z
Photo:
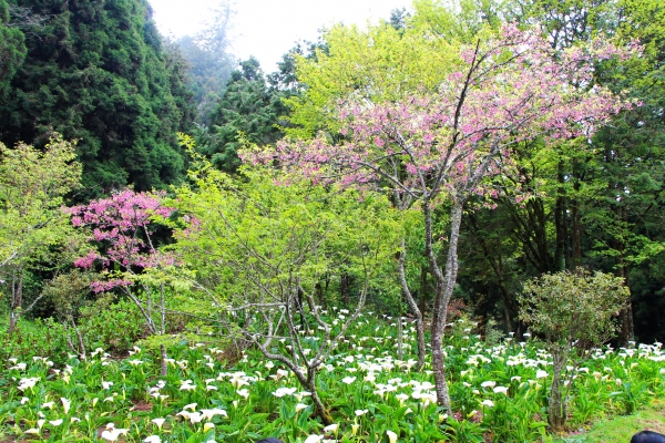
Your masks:
M402 209L418 205L437 282L432 368L438 402L449 412L441 342L458 274L462 206L472 196L499 192L493 184L501 182L507 168L514 168L515 145L536 138L589 137L612 114L630 106L593 82L594 63L628 52L598 41L555 52L540 34L507 25L500 39L463 48L459 69L437 94L398 103L352 97L340 103L346 137L341 143L321 136L242 154L246 162L277 162L316 181L388 188ZM432 216L442 203L450 207L450 234L446 262L439 264Z

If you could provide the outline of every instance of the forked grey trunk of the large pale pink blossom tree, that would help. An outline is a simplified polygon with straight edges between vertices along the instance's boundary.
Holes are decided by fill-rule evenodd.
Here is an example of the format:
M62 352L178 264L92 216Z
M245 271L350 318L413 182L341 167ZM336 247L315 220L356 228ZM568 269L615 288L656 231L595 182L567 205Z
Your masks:
M450 238L448 245L448 258L446 261L446 274L437 265L433 250L432 213L429 202L423 202L426 254L429 258L431 272L437 279L437 291L434 293L434 310L431 326L432 370L437 390L437 402L449 414L452 414L450 395L446 383L446 369L443 362L443 329L448 315L448 303L454 289L458 272L457 248L462 223L462 204L453 199L450 210Z

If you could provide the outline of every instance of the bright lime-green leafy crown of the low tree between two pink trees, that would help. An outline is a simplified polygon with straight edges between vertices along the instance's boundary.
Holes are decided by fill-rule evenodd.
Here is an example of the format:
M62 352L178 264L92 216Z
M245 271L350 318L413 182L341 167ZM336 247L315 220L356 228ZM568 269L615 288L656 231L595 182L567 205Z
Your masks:
M176 189L173 203L192 223L176 233L176 250L229 303L283 300L296 281L314 290L340 267L376 276L393 256L400 222L383 197L243 173L232 181L203 164L196 189Z

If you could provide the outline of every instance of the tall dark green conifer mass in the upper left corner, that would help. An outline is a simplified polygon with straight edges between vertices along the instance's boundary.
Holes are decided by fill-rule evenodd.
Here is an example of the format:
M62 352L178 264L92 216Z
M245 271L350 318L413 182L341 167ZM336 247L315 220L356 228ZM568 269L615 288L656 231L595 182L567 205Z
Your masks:
M21 7L49 20L25 31L27 56L0 101L0 141L41 146L52 130L80 138L88 195L180 179L175 132L193 110L182 65L161 48L147 2L28 0Z

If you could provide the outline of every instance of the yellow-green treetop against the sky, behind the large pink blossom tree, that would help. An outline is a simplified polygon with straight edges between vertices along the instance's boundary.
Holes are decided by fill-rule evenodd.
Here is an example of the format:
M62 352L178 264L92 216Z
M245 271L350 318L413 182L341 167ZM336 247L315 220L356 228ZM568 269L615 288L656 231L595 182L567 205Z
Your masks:
M349 96L385 103L436 91L457 59L454 43L430 37L423 28L398 30L388 23L367 31L345 25L327 31L316 56L296 58L304 91L285 100L291 110L286 133L296 137L311 137L319 130L336 133L339 122L331 113Z

